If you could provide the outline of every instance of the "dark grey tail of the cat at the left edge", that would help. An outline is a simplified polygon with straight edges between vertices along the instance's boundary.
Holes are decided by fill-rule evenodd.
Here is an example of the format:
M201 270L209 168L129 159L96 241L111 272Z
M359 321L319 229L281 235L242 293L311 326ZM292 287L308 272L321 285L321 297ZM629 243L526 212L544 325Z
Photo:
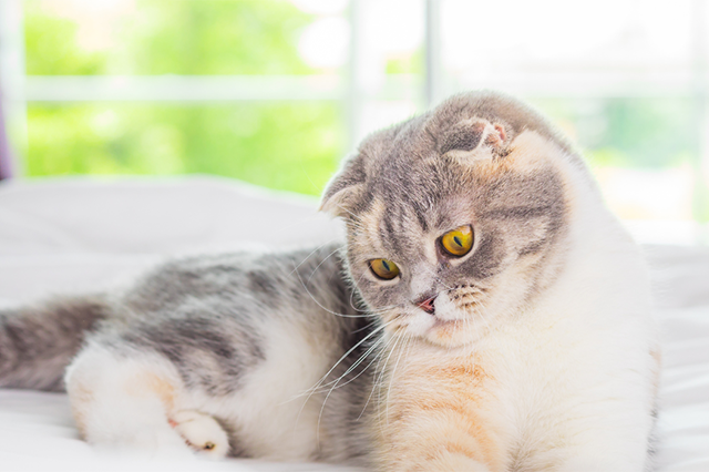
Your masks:
M101 296L0 310L0 388L63 390L64 369L107 315Z

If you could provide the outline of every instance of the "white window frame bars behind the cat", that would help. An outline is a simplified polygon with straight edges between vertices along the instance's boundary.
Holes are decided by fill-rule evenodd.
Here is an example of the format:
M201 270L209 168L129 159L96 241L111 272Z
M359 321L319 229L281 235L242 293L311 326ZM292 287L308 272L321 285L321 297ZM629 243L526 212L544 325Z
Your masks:
M0 104L8 119L17 154L27 148L28 103L54 102L269 102L269 101L331 101L347 109L348 152L366 134L362 123L362 103L367 100L402 99L395 79L388 83L378 96L369 96L361 83L363 62L358 49L363 34L362 9L366 2L377 0L350 0L350 50L348 73L343 79L326 75L261 75L261 76L32 76L24 74L24 38L21 0L0 0L0 83L4 95ZM420 102L428 106L456 92L460 85L446 83L441 64L441 1L422 0L425 8L425 71L420 91ZM526 96L554 96L568 99L677 96L690 98L697 104L697 133L701 136L692 166L696 175L693 212L707 212L709 195L709 64L706 48L708 39L705 0L693 0L691 70L674 73L637 75L615 71L596 74L568 74L495 76L494 83L472 84L494 86ZM389 80L389 79L388 79ZM638 86L638 84L641 84ZM471 84L467 84L471 85ZM14 160L16 175L22 175L22 160ZM707 226L707 225L705 225ZM707 232L709 229L705 229ZM703 235L709 240L709 235Z

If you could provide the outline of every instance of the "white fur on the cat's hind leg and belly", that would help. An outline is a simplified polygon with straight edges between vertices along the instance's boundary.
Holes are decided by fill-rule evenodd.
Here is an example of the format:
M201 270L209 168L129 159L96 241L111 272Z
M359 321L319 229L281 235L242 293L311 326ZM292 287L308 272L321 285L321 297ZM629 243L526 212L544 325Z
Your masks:
M318 450L323 394L309 392L331 367L327 351L337 347L314 345L297 324L268 322L273 324L267 328L268 362L247 376L244 388L222 398L185 388L174 368L157 356L133 352L122 357L99 346L83 350L68 370L66 384L74 404L81 389L91 392L92 401L79 406L82 411L74 407L79 422L85 424L86 440L151 455L188 456L194 450L216 459L229 448L226 432L214 420L219 418L237 433L244 432L238 434L242 443L237 447L255 456L311 459ZM160 396L143 391L145 374L174 386L172 410ZM205 450L206 443L214 448Z

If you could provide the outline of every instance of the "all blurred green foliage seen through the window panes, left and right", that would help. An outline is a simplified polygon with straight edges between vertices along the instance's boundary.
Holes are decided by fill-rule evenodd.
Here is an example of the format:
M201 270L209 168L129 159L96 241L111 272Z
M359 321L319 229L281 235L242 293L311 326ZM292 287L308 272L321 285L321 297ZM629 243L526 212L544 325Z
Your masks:
M298 55L314 18L287 0L135 0L111 48L80 44L79 25L23 0L27 73L310 74ZM423 49L386 73L423 72ZM540 99L595 167L667 168L696 158L689 99ZM209 173L318 194L343 153L339 103L31 104L29 175Z

